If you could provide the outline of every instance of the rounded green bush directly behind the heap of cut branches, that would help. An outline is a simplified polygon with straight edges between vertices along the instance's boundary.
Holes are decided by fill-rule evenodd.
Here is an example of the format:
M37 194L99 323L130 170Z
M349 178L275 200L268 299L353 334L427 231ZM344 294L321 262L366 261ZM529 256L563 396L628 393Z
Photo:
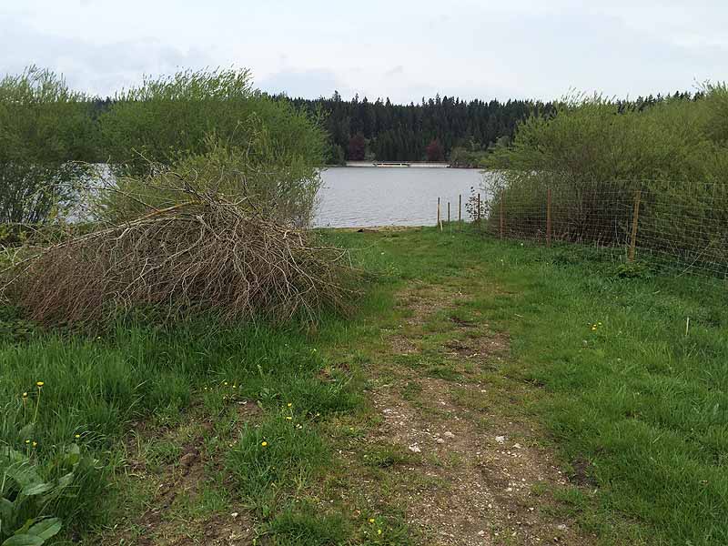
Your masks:
M116 96L100 129L126 193L143 192L150 171L217 169L221 191L299 225L310 220L325 136L288 102L255 91L247 71L149 78Z

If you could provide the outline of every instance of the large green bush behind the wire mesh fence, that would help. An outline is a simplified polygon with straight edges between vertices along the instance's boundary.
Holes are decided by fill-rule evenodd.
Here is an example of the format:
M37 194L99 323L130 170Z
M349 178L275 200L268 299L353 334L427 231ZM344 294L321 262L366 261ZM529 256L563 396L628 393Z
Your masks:
M507 235L544 238L548 188L554 238L622 245L640 190L639 248L728 272L727 97L712 86L640 109L580 96L531 116L490 157L490 230L502 206Z

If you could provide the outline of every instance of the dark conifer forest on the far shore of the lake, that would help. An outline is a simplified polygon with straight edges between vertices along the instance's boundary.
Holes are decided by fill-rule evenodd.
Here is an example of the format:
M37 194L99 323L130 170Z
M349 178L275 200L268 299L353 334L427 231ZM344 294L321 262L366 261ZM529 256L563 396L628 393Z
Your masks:
M667 99L691 100L678 92L667 96L616 101L617 111L643 109ZM278 96L286 99L285 96ZM365 96L346 101L330 98L290 99L312 115L322 115L329 132L326 161L450 161L459 167L477 167L496 143L511 141L518 123L530 116L551 116L557 102L535 100L465 101L454 96L422 98L420 104L396 105L389 98L371 102Z

